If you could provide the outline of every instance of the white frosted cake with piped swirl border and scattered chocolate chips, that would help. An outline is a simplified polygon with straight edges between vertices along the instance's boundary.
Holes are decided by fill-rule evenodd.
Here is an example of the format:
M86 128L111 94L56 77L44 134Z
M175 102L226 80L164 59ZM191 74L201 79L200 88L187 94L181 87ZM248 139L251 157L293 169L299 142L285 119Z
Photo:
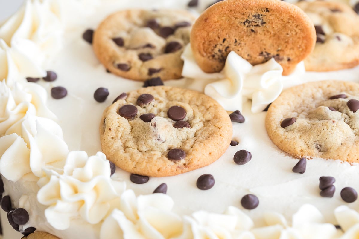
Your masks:
M209 166L176 176L150 177L144 184L131 181L129 172L113 170L106 160L98 130L103 112L122 92L137 91L144 82L109 73L83 33L120 10L189 8L199 16L213 3L199 0L194 6L195 2L27 0L1 25L0 173L4 192L0 214L4 239L23 235L60 239L358 238L359 201L346 202L351 200L341 195L343 189L348 192L346 188L359 190L358 165L315 157L298 161L271 141L264 111L282 89L317 81L358 82L358 67L305 72L302 62L294 73L282 76L283 68L274 58L252 66L230 54L228 68L244 72L257 83L229 79L242 84L238 90L240 87L226 85L225 73L201 71L191 47L183 47L185 78L167 80L164 85L205 92L228 115L234 112L228 149ZM275 80L271 87L263 88L260 80L271 80L263 77L266 72ZM94 92L101 87L109 95L98 102ZM260 97L262 92L266 97ZM241 150L251 153L251 158L246 154L244 161L239 160ZM303 169L303 161L305 172L293 172L303 172L297 170ZM197 188L203 175L213 176L214 185L204 188L208 190ZM332 186L336 189L333 197L322 197L321 190ZM243 203L253 202L248 195L255 195L259 205Z

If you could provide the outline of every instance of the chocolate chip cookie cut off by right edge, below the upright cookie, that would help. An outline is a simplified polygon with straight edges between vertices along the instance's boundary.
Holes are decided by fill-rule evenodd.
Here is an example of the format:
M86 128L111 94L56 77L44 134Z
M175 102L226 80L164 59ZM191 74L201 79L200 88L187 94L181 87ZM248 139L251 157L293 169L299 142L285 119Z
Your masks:
M295 157L359 162L359 84L318 81L284 91L269 107L266 128Z

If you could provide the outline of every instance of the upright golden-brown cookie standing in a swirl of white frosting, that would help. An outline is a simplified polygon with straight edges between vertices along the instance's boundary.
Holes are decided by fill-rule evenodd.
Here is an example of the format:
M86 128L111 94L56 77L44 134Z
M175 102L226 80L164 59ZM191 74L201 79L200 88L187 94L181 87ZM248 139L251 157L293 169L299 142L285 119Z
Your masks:
M196 20L191 47L207 73L223 69L231 51L253 65L274 58L290 74L313 50L316 33L297 6L278 0L226 0Z

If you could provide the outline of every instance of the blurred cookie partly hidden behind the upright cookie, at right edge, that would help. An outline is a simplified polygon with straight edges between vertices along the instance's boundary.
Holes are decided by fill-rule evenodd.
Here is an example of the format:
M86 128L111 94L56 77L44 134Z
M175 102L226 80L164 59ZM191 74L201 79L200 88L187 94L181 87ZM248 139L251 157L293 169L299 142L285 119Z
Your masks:
M348 5L330 1L297 4L317 32L314 51L305 59L308 71L335 71L359 64L359 16Z

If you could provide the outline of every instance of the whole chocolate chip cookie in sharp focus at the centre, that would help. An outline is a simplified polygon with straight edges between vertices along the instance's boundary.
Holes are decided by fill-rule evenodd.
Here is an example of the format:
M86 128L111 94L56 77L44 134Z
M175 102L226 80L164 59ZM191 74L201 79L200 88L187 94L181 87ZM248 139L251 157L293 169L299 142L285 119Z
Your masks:
M103 113L101 147L123 170L178 175L216 161L232 139L227 112L212 98L168 86L129 92Z

